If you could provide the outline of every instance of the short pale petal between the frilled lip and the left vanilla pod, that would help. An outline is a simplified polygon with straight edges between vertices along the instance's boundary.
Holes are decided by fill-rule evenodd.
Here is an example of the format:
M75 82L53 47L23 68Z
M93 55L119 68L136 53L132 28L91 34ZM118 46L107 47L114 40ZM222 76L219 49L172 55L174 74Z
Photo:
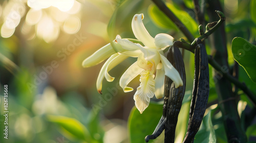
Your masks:
M157 99L163 98L163 90L164 90L164 69L157 69L157 74L155 78L156 82L156 91L155 91L155 96Z

